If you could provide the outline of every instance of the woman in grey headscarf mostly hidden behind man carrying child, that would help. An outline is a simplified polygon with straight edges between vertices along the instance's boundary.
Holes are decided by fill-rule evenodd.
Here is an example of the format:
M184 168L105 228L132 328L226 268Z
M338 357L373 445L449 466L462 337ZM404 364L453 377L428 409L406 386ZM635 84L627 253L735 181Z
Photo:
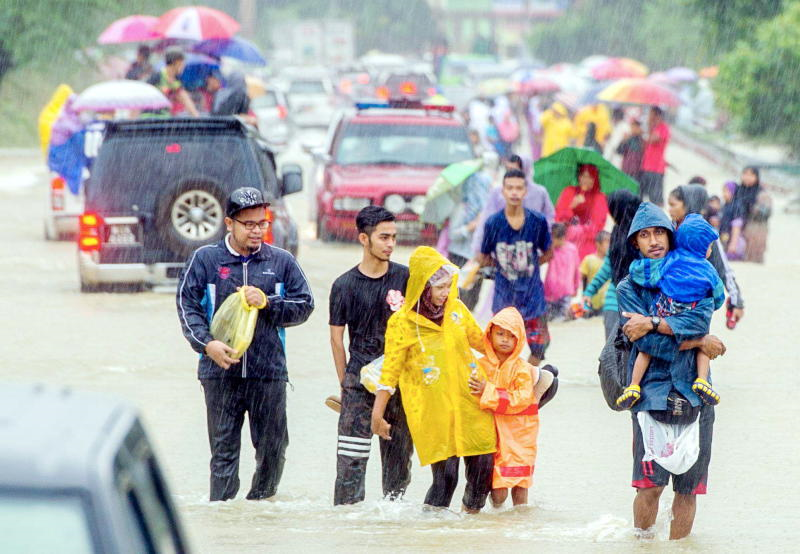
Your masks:
M670 218L677 228L688 214L703 214L708 203L708 192L702 185L681 185L669 193L667 202ZM708 261L717 270L728 291L727 322L728 327L733 329L736 323L744 317L744 299L739 284L736 282L736 275L728 263L728 257L719 240L711 244L711 256Z

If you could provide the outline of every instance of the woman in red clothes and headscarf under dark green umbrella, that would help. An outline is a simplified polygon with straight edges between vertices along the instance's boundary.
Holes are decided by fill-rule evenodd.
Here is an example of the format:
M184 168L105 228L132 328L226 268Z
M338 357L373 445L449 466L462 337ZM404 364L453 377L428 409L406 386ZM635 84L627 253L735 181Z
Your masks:
M597 166L578 166L578 184L565 188L556 203L556 221L567 225L567 240L583 259L596 250L595 237L606 226L608 204L600 190Z

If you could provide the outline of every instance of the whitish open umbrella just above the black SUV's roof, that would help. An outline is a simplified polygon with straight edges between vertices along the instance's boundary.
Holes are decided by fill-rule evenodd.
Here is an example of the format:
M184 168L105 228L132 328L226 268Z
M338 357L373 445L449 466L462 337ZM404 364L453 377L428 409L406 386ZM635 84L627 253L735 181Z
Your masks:
M143 81L119 79L92 85L78 95L73 107L82 112L115 110L160 110L170 101L160 90Z

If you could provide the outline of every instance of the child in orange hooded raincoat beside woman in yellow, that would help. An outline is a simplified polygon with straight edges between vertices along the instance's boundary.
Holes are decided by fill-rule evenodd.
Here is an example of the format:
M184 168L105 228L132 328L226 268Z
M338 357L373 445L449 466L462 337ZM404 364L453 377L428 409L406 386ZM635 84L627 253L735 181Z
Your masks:
M539 401L553 384L555 371L540 370L520 357L525 345L525 322L516 308L505 308L492 318L483 342L486 356L478 364L487 381L480 380L475 372L470 388L480 396L481 408L494 412L498 445L492 504L500 507L509 488L515 506L527 504L536 461Z

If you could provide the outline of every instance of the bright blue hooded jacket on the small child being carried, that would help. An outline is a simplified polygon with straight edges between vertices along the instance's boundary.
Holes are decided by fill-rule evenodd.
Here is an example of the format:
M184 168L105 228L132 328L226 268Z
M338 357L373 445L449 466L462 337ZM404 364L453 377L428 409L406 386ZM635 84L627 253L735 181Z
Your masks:
M706 259L708 247L719 238L699 214L689 214L675 232L675 250L664 258L640 258L630 266L631 278L648 288L659 288L678 302L698 302L711 295L714 309L725 303L725 287Z

